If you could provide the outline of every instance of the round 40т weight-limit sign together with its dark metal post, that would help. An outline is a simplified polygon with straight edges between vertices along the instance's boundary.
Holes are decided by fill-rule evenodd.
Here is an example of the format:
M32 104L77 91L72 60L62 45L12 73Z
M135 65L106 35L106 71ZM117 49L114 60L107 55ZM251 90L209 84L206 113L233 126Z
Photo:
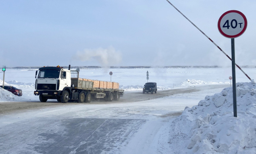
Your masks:
M246 28L246 17L243 13L237 10L230 10L225 12L220 16L218 21L218 29L220 34L222 34L224 37L231 38L234 117L237 117L235 38L242 35Z

